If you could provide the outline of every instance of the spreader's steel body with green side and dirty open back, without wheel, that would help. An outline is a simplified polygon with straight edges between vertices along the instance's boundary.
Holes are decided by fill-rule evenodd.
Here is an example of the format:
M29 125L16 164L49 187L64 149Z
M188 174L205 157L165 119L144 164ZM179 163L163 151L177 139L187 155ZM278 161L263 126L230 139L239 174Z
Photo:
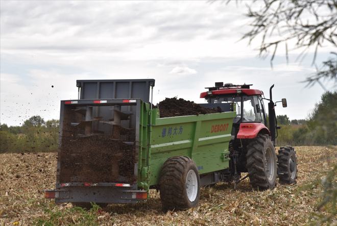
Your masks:
M136 203L159 189L163 164L175 156L195 162L201 185L220 181L235 109L160 118L150 86L154 80L78 81L81 98L61 101L56 189L47 198Z

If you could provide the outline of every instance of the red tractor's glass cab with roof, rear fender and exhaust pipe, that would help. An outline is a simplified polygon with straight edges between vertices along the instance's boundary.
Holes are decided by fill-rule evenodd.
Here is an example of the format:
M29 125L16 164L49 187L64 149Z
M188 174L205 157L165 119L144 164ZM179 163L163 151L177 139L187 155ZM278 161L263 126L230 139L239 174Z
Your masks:
M214 87L206 87L208 91L202 92L200 98L205 98L207 108L221 108L222 112L236 111L233 120L232 135L240 139L251 139L258 133L271 136L276 145L277 121L275 104L272 101L272 88L270 87L270 99L268 103L269 123L267 124L267 111L263 104L264 94L261 90L251 89L252 84L233 85L232 83L216 82ZM282 99L282 106L286 107L286 99ZM268 128L267 128L268 127ZM244 131L244 132L243 132ZM250 133L251 132L251 133Z

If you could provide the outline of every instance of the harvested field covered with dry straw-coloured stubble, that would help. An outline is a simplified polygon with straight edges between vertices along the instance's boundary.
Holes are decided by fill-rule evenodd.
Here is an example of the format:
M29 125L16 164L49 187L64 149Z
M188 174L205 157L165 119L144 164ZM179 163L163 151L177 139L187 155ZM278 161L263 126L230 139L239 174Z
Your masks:
M55 187L56 153L0 155L0 225L289 225L309 224L317 214L321 180L336 160L336 147L301 146L295 185L253 191L249 180L202 188L198 208L161 212L159 193L147 203L109 205L85 211L71 204L57 206L43 190ZM336 223L336 222L335 222Z

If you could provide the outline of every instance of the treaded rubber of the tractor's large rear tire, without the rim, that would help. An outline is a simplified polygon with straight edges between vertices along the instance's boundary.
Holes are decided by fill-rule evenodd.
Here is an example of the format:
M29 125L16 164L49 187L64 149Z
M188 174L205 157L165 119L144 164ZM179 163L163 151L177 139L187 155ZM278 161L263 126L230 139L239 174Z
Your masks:
M267 139L269 139L268 135L259 134L247 145L246 166L250 184L253 188L260 190L272 188L267 182L266 172L264 170L263 149Z

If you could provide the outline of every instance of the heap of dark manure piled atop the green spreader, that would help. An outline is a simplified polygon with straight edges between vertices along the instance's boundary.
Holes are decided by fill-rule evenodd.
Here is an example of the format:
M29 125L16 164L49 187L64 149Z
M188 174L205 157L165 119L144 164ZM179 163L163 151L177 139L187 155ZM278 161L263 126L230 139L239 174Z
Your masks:
M159 113L161 118L218 112L221 112L221 109L204 108L194 102L185 101L182 98L165 98L164 101L159 102Z

